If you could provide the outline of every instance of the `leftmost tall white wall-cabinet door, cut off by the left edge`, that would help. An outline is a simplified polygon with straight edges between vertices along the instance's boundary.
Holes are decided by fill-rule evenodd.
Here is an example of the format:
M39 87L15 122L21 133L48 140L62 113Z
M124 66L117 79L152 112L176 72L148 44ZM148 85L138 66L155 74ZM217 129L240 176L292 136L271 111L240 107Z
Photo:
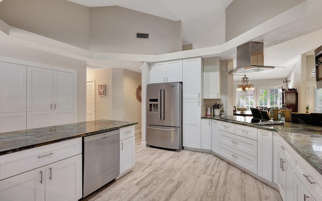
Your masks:
M26 66L0 62L0 113L26 112Z

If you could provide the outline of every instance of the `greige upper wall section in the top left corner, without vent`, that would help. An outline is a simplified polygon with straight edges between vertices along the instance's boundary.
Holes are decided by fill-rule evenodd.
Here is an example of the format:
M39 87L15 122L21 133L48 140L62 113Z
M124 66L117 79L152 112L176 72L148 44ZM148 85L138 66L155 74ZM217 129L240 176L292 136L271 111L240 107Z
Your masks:
M0 19L7 24L88 49L89 8L65 0L4 0Z

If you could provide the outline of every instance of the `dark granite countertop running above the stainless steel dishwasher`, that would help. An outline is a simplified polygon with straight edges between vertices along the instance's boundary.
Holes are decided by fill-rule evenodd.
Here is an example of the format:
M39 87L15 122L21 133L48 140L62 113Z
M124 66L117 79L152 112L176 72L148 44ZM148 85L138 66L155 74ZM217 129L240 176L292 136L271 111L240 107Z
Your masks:
M0 155L70 140L73 138L113 131L135 124L137 124L137 122L97 120L0 133Z

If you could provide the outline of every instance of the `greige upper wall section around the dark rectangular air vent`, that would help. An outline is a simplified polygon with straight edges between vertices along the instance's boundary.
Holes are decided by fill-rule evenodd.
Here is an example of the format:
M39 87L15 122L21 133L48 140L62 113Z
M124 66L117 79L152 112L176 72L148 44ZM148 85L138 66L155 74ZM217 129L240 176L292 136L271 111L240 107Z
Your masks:
M136 39L136 32L149 33L149 39ZM93 52L153 55L182 51L180 21L118 6L90 8L90 38Z

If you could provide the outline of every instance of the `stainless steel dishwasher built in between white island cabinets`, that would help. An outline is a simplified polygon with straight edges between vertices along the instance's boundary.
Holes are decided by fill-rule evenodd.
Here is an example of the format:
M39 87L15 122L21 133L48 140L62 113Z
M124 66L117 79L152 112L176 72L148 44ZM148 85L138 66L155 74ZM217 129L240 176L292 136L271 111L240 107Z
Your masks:
M83 138L83 197L119 174L120 130Z

